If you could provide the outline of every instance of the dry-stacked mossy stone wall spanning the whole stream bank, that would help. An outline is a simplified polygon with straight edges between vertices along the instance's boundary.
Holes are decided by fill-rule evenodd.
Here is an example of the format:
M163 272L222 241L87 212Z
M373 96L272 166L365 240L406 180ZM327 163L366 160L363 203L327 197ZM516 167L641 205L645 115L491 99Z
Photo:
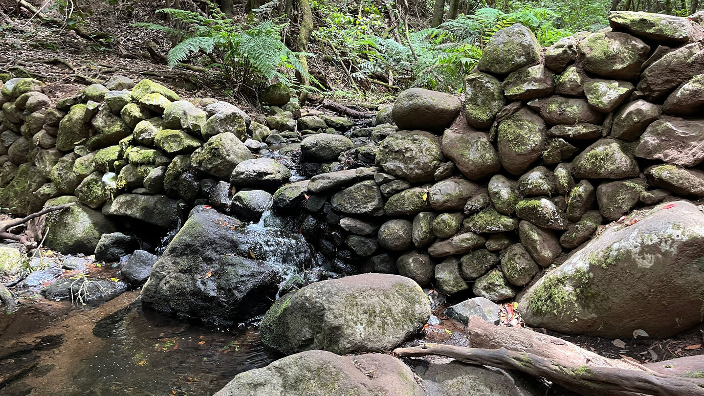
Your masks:
M283 101L252 120L150 80L55 100L11 79L0 206L80 202L49 218L46 245L90 254L115 216L168 229L196 204L255 222L272 205L339 273L509 299L601 225L704 196L702 28L610 21L546 49L522 25L501 30L463 94L408 89L373 128Z

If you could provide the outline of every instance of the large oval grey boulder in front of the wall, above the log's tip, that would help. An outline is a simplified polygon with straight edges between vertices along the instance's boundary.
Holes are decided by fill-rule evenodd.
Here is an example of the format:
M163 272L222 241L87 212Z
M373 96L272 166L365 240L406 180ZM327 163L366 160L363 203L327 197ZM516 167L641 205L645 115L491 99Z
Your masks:
M260 331L265 345L284 354L372 352L398 347L429 316L427 296L413 280L370 273L285 295L264 315Z

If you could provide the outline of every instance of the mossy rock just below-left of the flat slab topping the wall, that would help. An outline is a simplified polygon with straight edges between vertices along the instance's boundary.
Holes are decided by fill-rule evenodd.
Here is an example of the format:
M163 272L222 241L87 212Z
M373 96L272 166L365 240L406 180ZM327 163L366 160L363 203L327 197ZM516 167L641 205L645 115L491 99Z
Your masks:
M603 77L633 80L641 73L650 47L622 32L602 32L586 37L577 47L582 68Z

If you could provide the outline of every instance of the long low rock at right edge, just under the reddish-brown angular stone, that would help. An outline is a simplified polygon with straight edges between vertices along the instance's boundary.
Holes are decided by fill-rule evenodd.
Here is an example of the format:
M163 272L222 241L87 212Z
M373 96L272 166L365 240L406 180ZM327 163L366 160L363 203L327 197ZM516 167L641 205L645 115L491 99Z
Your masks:
M675 194L704 197L704 172L675 165L650 166L644 172L648 184L667 188Z

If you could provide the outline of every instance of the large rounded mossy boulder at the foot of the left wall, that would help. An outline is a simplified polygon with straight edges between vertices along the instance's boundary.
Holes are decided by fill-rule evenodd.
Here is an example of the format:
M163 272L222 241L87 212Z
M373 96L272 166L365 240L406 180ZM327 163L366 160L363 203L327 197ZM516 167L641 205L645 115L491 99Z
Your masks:
M77 201L77 197L65 195L49 199L45 206ZM48 231L44 245L63 254L93 254L101 235L117 231L113 221L83 204L46 215L46 227Z

